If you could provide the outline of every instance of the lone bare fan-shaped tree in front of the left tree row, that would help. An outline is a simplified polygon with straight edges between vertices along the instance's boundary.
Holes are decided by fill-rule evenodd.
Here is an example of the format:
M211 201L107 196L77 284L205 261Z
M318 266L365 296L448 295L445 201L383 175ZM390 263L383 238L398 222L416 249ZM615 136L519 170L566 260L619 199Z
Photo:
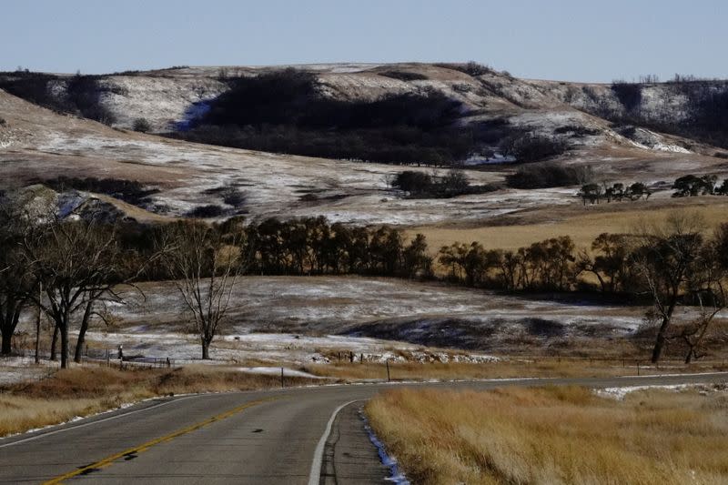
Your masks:
M227 229L227 230L226 230ZM202 359L224 324L242 258L243 228L184 221L165 227L157 248L175 279L202 346Z

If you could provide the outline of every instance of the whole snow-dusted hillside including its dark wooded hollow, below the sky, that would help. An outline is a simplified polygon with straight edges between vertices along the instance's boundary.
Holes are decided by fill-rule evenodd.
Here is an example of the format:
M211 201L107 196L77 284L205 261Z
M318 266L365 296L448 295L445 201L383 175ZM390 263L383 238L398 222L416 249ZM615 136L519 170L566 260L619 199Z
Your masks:
M706 116L693 87L719 96L722 82L651 84L636 95L634 86L525 80L484 66L346 64L295 66L291 85L283 67L0 75L2 185L58 186L57 177L69 177L67 188L91 197L95 186L79 188L74 178L134 182L149 195L132 201L137 207L117 206L137 219L324 215L482 227L584 210L573 181L505 187L520 162L590 167L599 183L641 181L658 190L650 203L661 207L672 201L659 189L676 177L728 174L723 150L704 141L720 141L715 130L685 127ZM255 101L278 92L288 94ZM130 130L138 118L150 134ZM430 173L428 163L440 176L442 166L464 164L470 184L488 190L412 198L390 187L402 170Z

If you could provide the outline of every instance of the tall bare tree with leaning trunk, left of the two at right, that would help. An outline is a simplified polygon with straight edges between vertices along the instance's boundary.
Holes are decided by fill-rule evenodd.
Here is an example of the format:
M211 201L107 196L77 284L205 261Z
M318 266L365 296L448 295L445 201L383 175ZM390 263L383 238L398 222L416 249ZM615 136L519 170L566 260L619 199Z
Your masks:
M632 265L652 298L651 312L660 322L652 349L652 362L656 363L703 246L703 219L698 214L675 212L663 222L642 224L634 232L639 242L632 252Z

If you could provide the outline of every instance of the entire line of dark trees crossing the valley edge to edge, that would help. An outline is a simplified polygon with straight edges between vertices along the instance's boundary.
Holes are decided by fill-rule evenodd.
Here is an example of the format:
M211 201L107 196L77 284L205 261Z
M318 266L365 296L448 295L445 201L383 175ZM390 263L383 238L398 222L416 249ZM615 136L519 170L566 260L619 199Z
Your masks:
M29 208L31 207L31 208ZM658 330L653 361L680 339L686 361L701 356L715 315L726 305L728 224L706 236L699 217L674 214L629 234L602 234L591 251L571 237L553 237L515 250L486 249L480 242L440 248L437 261L450 281L503 291L624 293L652 301L646 315ZM233 288L244 275L372 275L434 278L426 238L408 240L394 227L350 227L325 217L293 220L242 217L207 224L110 223L103 217L60 219L24 204L0 204L0 333L2 354L24 311L52 323L51 357L62 367L80 360L86 330L104 318L109 303L123 303L119 288L143 280L170 280L194 323L203 358L227 319ZM681 304L696 317L678 328ZM37 347L36 347L37 351Z

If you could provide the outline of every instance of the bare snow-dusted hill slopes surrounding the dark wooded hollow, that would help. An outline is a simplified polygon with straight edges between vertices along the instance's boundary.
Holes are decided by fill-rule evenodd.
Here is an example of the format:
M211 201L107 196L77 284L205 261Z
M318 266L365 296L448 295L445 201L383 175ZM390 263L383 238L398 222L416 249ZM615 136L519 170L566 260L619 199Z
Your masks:
M485 135L478 132L478 153L465 162L472 166L465 172L474 185L497 187L512 173L514 166L503 162L513 157L500 153L503 138L509 136L556 140L566 150L547 158L589 165L598 182L642 181L665 187L688 173L718 177L728 173L725 158L715 157L722 153L719 148L600 117L627 115L629 102L625 105L625 96L609 85L522 80L482 66L475 71L469 71L472 66L423 64L297 67L315 76L317 96L337 103L431 92L457 102L456 125L462 130L485 130ZM141 207L122 207L136 219L179 217L199 210L209 217L324 215L358 224L478 227L492 220L518 224L521 215L535 210L547 216L552 207L583 210L575 197L577 187L502 188L451 198L409 198L389 187L391 177L404 169L430 172L430 168L273 154L128 131L135 119L145 118L152 132L184 134L191 122L235 86L231 79L280 68L182 67L84 77L84 82L77 76L52 76L41 79L45 84L40 87L33 85L35 91L21 93L45 100L56 112L0 91L0 117L5 120L0 125L0 183L5 188L20 187L61 176L137 181L157 193ZM16 90L31 86L32 79L22 73L0 77L6 87L10 82ZM662 113L675 123L690 118L689 98L667 96L671 86L641 89L642 107L632 106L632 114L655 119ZM670 102L665 104L665 98ZM76 103L73 106L85 116L108 115L103 120L111 127L58 111L69 103ZM663 196L655 196L658 202L654 203L669 200L669 194ZM88 196L82 192L77 197ZM215 206L214 210L205 210L208 206Z

